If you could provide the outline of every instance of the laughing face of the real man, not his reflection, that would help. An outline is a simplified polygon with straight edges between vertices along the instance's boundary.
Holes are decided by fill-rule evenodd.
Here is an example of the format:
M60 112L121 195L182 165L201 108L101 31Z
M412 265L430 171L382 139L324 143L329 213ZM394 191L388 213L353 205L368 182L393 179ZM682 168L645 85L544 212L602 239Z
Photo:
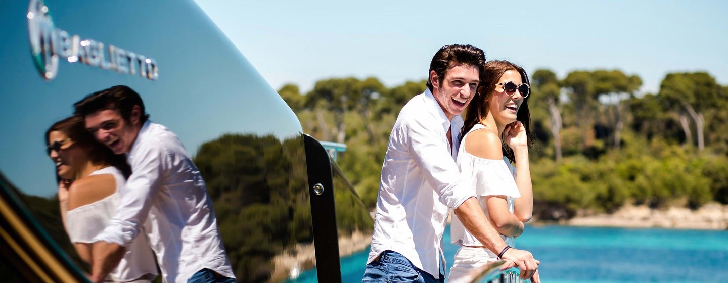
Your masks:
M472 97L475 96L478 82L480 82L480 73L474 65L454 63L448 68L442 82L437 79L435 71L430 72L430 81L432 82L432 95L435 95L435 100L438 100L438 104L443 108L448 119L452 120L453 116L462 114Z

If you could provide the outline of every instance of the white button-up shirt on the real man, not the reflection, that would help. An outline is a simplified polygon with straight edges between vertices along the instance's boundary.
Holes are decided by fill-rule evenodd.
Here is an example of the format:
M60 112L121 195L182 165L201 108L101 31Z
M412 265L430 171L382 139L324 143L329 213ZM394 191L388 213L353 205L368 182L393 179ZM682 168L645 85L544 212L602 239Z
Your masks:
M462 126L461 116L448 121L430 89L402 108L381 169L367 263L393 250L438 278L448 210L474 196L455 164Z

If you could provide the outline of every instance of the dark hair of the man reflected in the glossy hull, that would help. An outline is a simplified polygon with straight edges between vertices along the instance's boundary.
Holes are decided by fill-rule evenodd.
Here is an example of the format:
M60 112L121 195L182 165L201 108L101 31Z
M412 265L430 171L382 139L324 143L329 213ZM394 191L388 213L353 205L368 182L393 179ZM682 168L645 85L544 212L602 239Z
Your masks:
M109 87L87 95L84 99L74 103L74 108L76 109L75 114L81 116L87 116L102 110L119 111L122 118L131 123L134 105L139 105L139 111L141 112L139 118L141 124L144 124L149 119L149 114L144 110L144 102L141 100L141 96L134 89L124 85Z

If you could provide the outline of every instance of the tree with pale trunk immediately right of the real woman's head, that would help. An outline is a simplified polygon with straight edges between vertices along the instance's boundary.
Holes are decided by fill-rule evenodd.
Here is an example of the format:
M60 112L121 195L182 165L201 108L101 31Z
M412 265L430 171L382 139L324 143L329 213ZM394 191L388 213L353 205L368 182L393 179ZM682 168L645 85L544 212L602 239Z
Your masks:
M560 95L561 89L558 86L556 74L547 69L539 69L531 76L531 83L534 84L534 92L539 100L545 100L548 105L548 112L551 124L551 135L553 135L553 143L555 150L556 162L561 162L561 121Z

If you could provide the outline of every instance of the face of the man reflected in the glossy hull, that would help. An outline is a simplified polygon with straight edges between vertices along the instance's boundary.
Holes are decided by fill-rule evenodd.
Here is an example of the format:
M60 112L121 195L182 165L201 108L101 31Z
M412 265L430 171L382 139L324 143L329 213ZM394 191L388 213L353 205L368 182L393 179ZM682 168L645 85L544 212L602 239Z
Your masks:
M111 109L90 113L85 118L86 129L96 140L111 148L114 154L128 153L141 128L134 127L135 125L122 118L119 111ZM132 114L132 121L134 120Z

